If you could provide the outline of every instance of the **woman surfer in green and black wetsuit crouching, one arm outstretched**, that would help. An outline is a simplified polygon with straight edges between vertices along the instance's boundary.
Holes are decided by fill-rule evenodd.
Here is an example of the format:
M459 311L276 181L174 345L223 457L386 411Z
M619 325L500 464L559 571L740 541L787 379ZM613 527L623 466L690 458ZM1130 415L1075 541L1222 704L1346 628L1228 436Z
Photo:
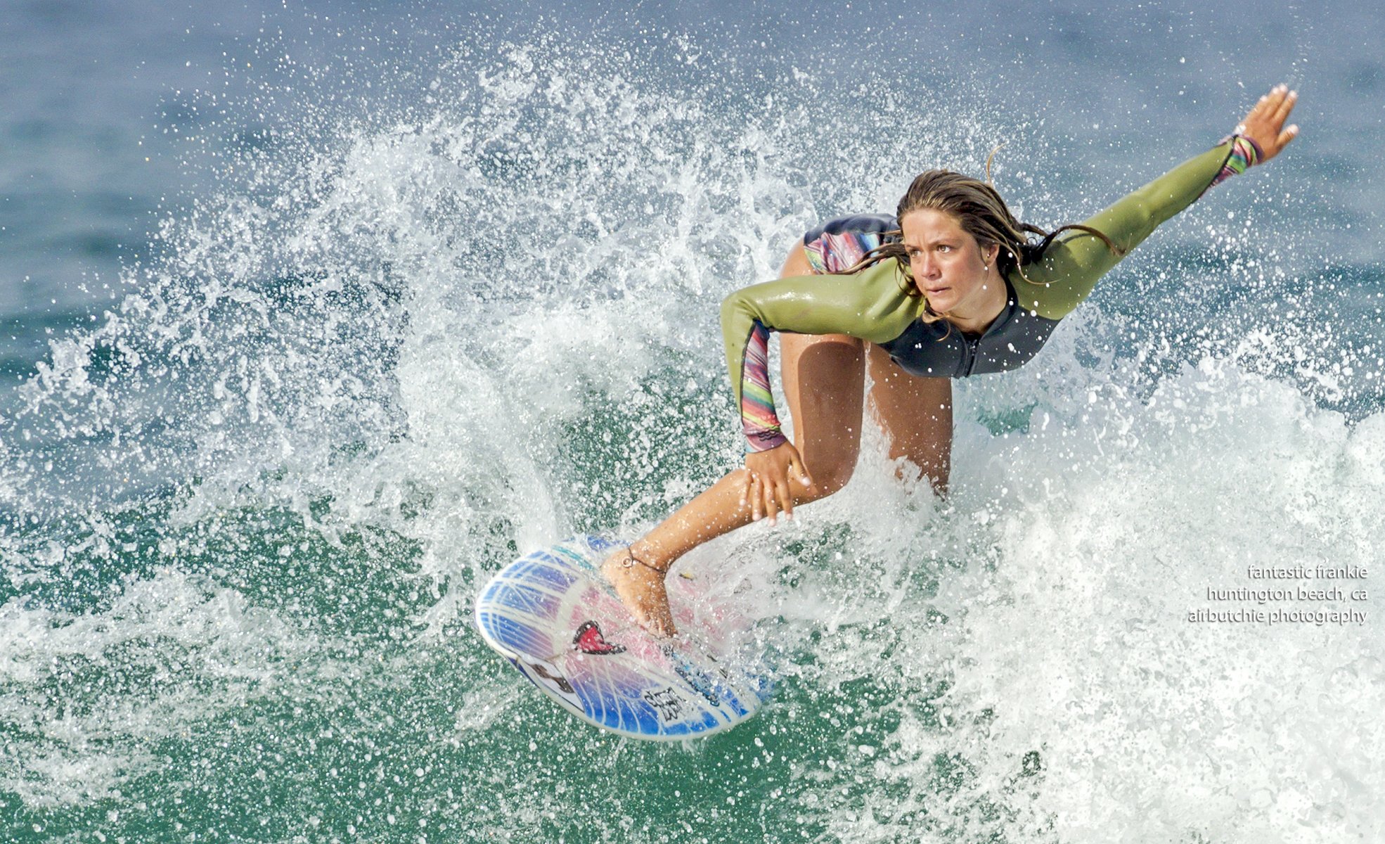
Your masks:
M663 578L680 556L751 521L841 489L860 448L864 373L891 457L947 484L951 378L1015 369L1097 280L1209 187L1274 158L1298 134L1280 85L1224 141L1082 225L1018 222L989 184L918 176L897 213L832 220L795 247L780 279L727 297L722 330L747 437L737 468L680 507L602 574L640 624L673 635ZM1039 240L1030 240L1029 236ZM850 273L850 277L845 277ZM796 445L780 432L767 371L781 331Z

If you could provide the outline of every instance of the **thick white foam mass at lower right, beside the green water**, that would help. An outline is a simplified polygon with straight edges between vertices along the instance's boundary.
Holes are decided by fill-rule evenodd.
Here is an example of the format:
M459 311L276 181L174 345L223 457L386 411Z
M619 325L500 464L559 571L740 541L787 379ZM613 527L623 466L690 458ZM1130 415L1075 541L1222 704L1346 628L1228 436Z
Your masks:
M1119 392L1109 370L1084 373L1094 395ZM859 532L856 560L781 596L799 628L832 633L814 679L902 675L927 697L946 682L932 701L942 729L899 701L874 766L909 783L907 798L835 814L834 834L897 840L896 822L924 811L1024 840L1379 836L1385 638L1371 581L1310 583L1367 600L1280 604L1356 610L1361 622L1188 614L1208 607L1208 588L1265 586L1248 565L1377 564L1385 416L1348 425L1291 387L1205 359L1145 401L1087 402L1065 387L1026 431L967 421L1001 388L958 391L949 507L920 511L881 489L875 453L838 499L801 514ZM939 557L961 565L940 570L936 597L900 600L907 570ZM928 610L947 622L929 624ZM886 660L871 632L882 615L902 639ZM1014 786L1035 751L1042 775ZM958 793L936 787L936 761L953 757L971 771ZM978 818L982 804L999 816Z

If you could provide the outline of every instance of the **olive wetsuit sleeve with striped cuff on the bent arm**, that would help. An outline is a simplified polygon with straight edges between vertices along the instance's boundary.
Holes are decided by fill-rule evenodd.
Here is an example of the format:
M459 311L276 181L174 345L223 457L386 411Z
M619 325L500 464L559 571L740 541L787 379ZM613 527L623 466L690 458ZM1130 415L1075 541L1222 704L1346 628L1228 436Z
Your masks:
M769 333L849 334L888 342L924 310L893 259L852 276L791 276L738 290L722 302L722 341L747 449L787 442L769 380Z

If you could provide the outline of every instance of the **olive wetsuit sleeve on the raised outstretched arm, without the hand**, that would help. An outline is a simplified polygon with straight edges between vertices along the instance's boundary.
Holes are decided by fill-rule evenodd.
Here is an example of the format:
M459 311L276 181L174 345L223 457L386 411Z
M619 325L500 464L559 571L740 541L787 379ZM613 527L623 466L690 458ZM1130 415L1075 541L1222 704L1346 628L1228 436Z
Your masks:
M1114 205L1083 220L1084 225L1105 233L1122 254L1129 254L1165 220L1179 213L1201 197L1208 187L1222 182L1231 172L1241 172L1253 159L1235 169L1235 155L1245 155L1246 148L1238 147L1237 139L1227 139L1206 152L1159 176L1150 184L1116 201ZM1253 148L1251 148L1253 155ZM1086 231L1066 231L1043 254L1036 265L1024 267L1025 277L1011 276L1011 283L1024 308L1035 310L1044 319L1062 319L1072 312L1097 285L1122 255L1118 255L1100 237Z

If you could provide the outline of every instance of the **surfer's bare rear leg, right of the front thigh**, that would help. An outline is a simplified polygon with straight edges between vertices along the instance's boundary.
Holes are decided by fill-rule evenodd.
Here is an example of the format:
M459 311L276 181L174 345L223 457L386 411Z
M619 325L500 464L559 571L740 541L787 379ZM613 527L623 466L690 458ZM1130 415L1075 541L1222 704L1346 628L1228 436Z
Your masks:
M889 437L889 457L907 457L947 495L951 471L951 378L918 378L895 366L885 349L867 344L870 407Z

